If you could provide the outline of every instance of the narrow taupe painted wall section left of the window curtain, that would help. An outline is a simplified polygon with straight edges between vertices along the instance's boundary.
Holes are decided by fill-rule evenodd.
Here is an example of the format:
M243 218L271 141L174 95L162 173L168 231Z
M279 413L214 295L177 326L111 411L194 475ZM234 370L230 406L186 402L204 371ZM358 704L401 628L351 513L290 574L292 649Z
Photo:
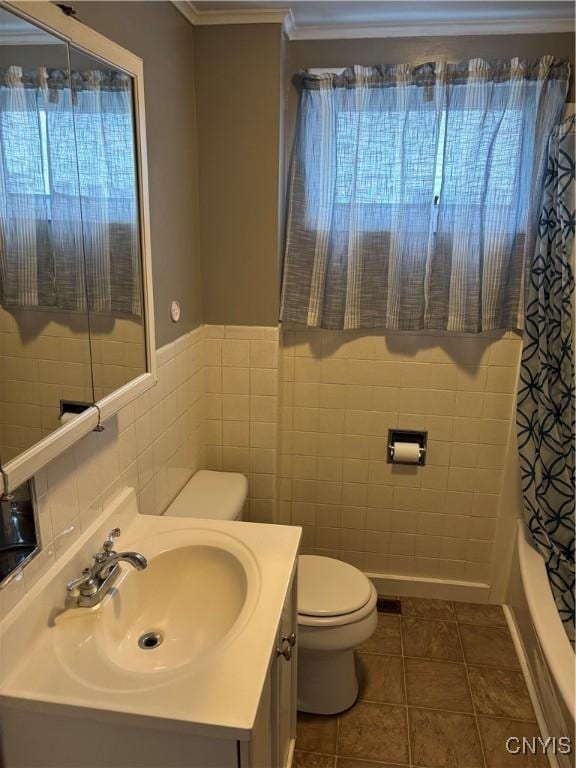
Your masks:
M281 27L194 31L204 320L276 325Z

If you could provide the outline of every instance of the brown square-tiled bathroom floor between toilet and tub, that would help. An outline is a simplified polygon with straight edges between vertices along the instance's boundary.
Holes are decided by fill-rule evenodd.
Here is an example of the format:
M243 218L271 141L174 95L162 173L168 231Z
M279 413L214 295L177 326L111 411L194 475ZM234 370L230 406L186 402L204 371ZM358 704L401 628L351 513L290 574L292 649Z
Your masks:
M356 659L358 701L299 714L294 768L548 768L504 748L538 726L499 606L402 598Z

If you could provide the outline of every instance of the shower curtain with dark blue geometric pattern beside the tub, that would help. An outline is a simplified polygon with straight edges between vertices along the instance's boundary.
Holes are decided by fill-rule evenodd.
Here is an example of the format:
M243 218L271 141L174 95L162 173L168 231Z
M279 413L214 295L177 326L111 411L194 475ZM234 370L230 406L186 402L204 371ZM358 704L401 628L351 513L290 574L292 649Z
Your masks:
M524 516L574 641L575 116L550 137L518 387Z

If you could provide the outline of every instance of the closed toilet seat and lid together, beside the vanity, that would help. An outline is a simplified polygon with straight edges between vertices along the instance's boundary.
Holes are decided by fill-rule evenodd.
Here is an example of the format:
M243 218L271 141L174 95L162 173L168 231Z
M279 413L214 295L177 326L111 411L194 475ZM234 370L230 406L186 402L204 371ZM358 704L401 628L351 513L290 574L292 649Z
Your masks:
M360 621L376 605L366 576L341 560L316 555L298 559L298 623L333 627Z

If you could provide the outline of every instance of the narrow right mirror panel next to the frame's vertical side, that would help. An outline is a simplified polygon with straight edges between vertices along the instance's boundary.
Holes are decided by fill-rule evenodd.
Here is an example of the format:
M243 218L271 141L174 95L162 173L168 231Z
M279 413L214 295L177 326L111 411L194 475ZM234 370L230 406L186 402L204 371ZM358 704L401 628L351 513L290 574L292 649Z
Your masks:
M146 372L132 78L70 47L94 397Z

